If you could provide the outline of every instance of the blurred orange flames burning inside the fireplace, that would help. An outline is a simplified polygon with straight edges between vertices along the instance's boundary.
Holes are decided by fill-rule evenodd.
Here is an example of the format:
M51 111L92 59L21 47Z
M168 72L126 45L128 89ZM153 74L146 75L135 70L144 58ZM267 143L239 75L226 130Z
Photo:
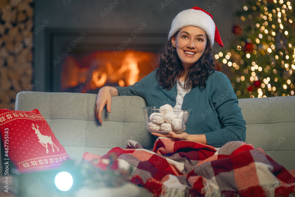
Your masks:
M90 85L84 92L104 85L129 86L153 71L155 62L155 53L131 50L122 51L117 57L112 51L98 51L81 58L80 62L67 56L62 68L61 87L85 86L86 81Z

